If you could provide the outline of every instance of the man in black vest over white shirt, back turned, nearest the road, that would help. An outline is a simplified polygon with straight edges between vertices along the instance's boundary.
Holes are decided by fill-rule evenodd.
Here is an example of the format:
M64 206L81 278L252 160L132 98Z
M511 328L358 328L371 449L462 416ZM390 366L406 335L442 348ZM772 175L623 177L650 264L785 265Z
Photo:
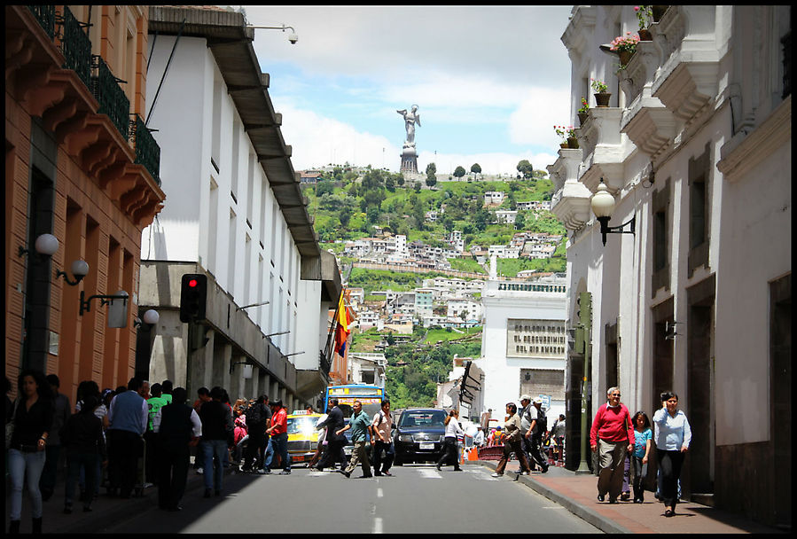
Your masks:
M181 511L180 500L188 480L191 447L196 447L202 435L202 423L196 410L185 403L188 393L176 387L173 402L155 412L152 429L158 436L158 507L167 511Z

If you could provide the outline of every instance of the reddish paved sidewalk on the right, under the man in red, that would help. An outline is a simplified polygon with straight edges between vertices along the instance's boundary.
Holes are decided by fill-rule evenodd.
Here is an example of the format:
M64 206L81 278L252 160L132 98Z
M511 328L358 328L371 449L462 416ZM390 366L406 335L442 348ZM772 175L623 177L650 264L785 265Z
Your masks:
M478 460L466 464L481 464L495 470L497 462ZM507 465L503 480L515 480L510 472L517 461ZM592 526L610 534L777 534L777 528L758 524L736 514L707 505L683 502L676 506L676 516L664 517L664 504L652 492L645 491L645 503L619 501L617 504L598 502L598 478L591 473L578 474L566 468L551 466L548 473L532 472L520 475L520 482L539 494L564 506L569 512Z

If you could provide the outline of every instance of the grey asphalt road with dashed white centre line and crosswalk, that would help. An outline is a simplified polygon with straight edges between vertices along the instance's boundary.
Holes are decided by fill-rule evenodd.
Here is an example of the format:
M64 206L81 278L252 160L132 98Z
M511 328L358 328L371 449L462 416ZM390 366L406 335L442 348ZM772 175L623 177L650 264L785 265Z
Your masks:
M511 463L511 465L516 463ZM293 468L291 475L233 474L223 496L194 488L182 512L157 507L103 533L601 533L565 508L481 465L464 472L434 465L394 466L393 477L346 479ZM194 473L193 471L189 473Z

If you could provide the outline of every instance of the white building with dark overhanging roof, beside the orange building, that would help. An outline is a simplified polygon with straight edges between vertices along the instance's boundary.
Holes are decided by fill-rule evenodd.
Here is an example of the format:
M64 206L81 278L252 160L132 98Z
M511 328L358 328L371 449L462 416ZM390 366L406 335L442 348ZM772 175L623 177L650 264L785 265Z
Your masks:
M268 393L289 410L316 402L328 382L324 346L340 273L317 244L253 30L218 8L149 10L158 38L147 67L166 77L146 105L171 201L142 234L138 303L160 313L150 379L191 395L216 385L231 398ZM207 276L197 324L179 320L186 273Z

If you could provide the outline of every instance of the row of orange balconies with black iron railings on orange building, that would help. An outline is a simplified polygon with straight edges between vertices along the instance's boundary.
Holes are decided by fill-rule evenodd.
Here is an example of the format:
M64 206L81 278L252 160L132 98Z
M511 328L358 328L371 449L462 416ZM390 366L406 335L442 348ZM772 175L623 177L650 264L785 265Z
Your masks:
M7 5L5 15L7 93L42 118L44 129L122 215L136 226L152 223L166 198L155 179L160 150L151 136L145 140L144 129L132 141L134 152L129 101L105 62L92 62L87 25L66 6Z

